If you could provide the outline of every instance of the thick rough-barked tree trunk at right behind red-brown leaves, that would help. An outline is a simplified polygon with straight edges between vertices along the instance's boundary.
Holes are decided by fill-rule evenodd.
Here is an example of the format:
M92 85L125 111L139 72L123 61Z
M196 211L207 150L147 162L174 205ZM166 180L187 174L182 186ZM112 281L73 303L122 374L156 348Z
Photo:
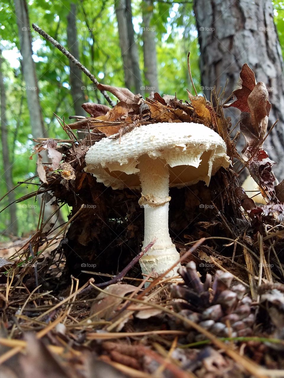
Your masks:
M268 99L272 103L268 129L276 119L279 121L265 140L264 149L268 150L270 157L277 163L273 170L278 180L282 180L283 58L273 22L272 1L195 0L194 12L201 53L201 83L206 97L209 98L214 84L218 90L220 86L224 87L227 79L226 95L229 96L244 63L254 71L257 82L266 84ZM230 115L233 124L239 120L239 111L231 110Z

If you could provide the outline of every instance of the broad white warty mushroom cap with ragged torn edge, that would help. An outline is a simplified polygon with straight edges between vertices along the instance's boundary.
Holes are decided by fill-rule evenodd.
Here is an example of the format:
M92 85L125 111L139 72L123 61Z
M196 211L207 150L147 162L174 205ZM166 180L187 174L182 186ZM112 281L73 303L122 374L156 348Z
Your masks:
M140 187L139 157L148 155L169 166L169 186L183 187L202 180L209 184L220 167L228 167L226 144L202 124L156 123L136 127L119 139L104 138L86 154L86 172L113 189Z

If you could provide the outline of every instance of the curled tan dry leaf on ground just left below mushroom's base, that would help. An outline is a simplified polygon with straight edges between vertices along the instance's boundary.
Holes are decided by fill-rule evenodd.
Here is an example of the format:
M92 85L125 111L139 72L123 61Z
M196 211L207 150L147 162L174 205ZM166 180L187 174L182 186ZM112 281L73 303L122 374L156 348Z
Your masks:
M108 293L116 294L121 297L124 297L126 294L132 293L135 290L137 290L137 287L122 283L114 283L105 289ZM91 306L90 316L92 316L92 319L94 320L108 320L115 316L115 310L122 301L123 299L112 297L107 293L100 293Z

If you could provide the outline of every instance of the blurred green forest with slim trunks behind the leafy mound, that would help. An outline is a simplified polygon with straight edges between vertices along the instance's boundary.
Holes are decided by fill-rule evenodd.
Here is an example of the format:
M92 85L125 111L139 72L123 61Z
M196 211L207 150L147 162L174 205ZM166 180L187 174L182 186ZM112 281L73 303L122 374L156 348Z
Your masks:
M214 2L216 8L221 4ZM193 7L198 12L198 3L190 0L0 2L0 197L18 181L33 177L36 164L35 158L30 160L32 138L42 135L66 138L55 114L68 120L69 115L84 114L83 102L106 104L94 84L33 31L32 22L66 47L102 84L126 86L144 96L159 89L162 96L176 93L179 99L186 100L186 89L193 93L187 70L188 51L195 87L199 94L206 91L205 58L200 60L198 45L198 33L200 40L203 26L193 12ZM279 46L283 46L284 3L275 1L273 6ZM209 15L208 20L212 22ZM201 53L206 54L201 47ZM220 59L226 59L225 54ZM231 78L232 85L243 63L240 59ZM214 76L208 77L210 82L206 86L214 85L211 81ZM29 84L31 79L35 84ZM38 186L34 184L38 183L34 178L18 186L2 200L1 209L35 191ZM0 241L12 235L28 236L37 226L39 211L40 202L31 198L0 213ZM68 212L69 209L62 209L63 216L67 217Z

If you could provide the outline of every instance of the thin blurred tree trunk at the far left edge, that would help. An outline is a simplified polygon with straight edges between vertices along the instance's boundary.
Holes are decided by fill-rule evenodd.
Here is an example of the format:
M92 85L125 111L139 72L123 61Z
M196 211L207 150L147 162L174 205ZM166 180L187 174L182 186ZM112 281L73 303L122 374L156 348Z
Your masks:
M3 58L0 50L0 102L1 102L1 143L2 143L2 155L3 155L3 169L6 182L7 191L11 191L14 187L12 180L12 163L9 155L9 143L8 143L8 127L6 118L6 91L3 79ZM15 201L14 191L8 194L9 203ZM9 206L9 225L6 230L8 234L17 235L18 232L18 220L16 214L16 204Z

